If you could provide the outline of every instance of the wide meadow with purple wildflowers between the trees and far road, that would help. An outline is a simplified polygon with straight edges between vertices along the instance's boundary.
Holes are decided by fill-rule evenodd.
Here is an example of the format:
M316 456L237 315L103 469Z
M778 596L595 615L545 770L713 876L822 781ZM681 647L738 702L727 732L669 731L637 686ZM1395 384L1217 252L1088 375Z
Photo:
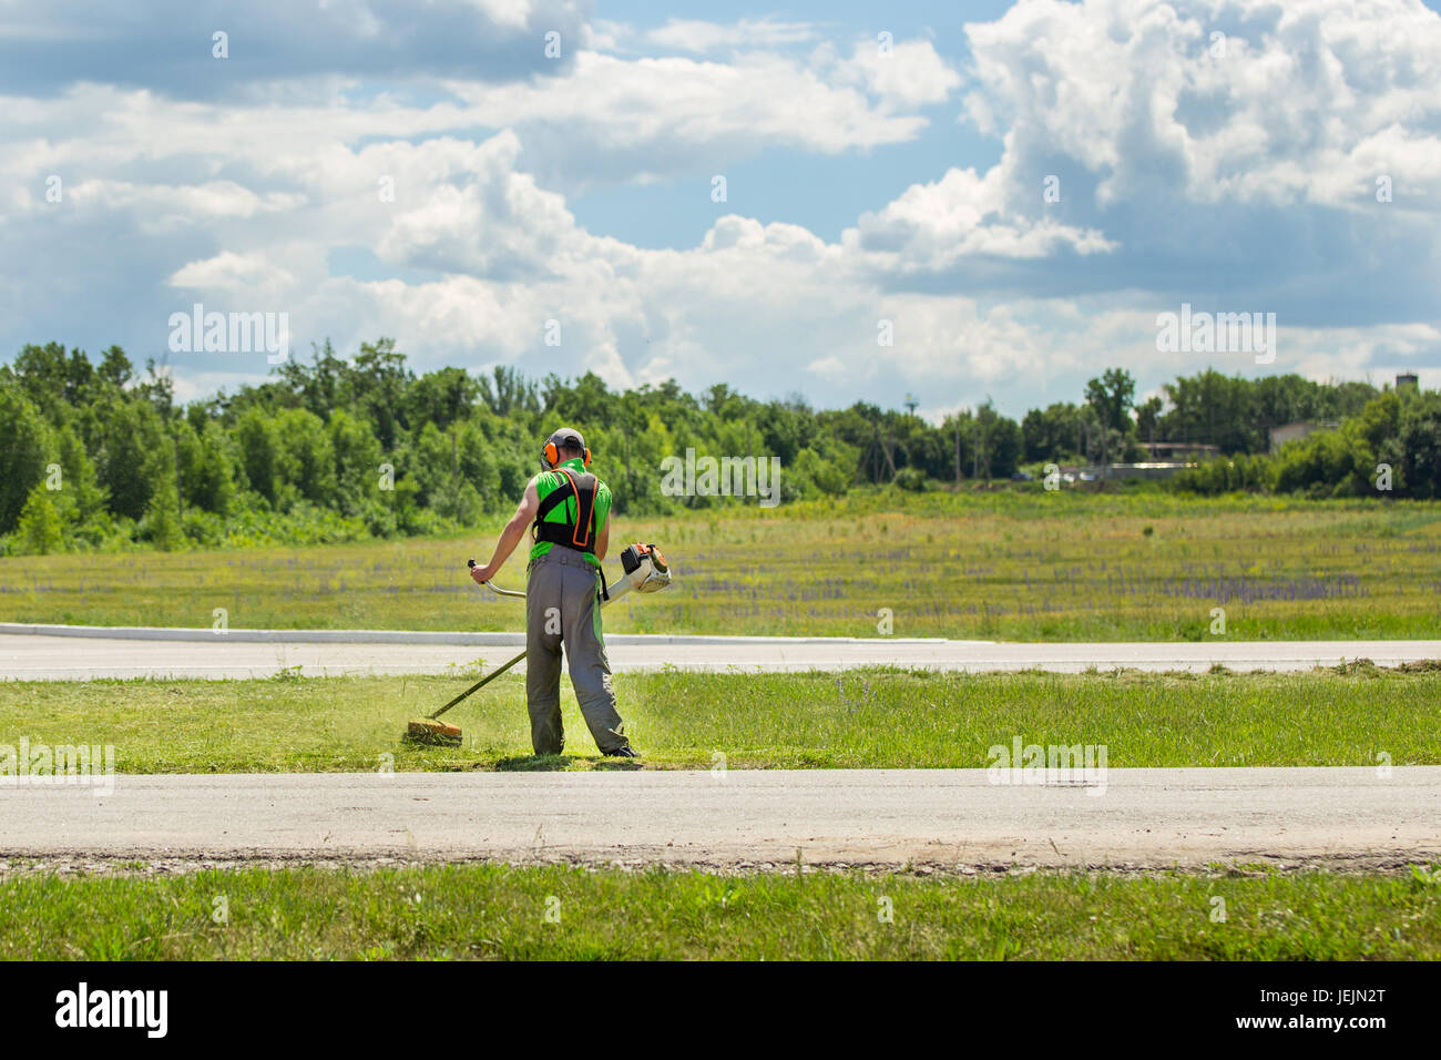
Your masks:
M892 503L888 500L888 503ZM627 633L1199 640L1441 636L1441 503L1164 493L924 495L618 519L677 580L617 604ZM246 629L519 629L483 593L500 522L464 539L0 561L0 622ZM612 562L611 567L615 567ZM501 584L519 586L512 561Z

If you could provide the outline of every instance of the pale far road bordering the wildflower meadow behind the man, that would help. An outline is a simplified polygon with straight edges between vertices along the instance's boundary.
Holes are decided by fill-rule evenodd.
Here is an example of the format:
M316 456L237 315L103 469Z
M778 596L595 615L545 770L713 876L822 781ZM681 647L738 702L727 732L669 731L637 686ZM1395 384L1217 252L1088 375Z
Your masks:
M262 678L301 673L444 673L525 646L517 633L101 630L0 626L0 679ZM35 630L35 632L32 632ZM43 632L40 632L43 630ZM1206 640L1200 643L993 643L942 639L608 636L617 672L666 665L695 671L807 671L893 665L948 671L1089 666L1146 671L1301 671L1370 659L1395 666L1441 659L1441 640ZM519 668L517 668L519 669Z

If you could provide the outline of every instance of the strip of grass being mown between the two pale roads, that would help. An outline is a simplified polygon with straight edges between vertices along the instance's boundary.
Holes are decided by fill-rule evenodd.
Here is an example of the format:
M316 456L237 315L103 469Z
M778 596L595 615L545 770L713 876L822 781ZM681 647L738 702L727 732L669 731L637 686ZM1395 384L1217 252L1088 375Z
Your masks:
M452 678L0 684L0 744L114 744L125 773L588 769L601 760L562 682L568 754L530 757L523 679L499 678L447 718L458 748L401 744ZM1308 673L1138 672L618 675L644 766L986 767L1014 736L1105 744L1107 764L1441 763L1441 666ZM627 764L627 763L623 763Z

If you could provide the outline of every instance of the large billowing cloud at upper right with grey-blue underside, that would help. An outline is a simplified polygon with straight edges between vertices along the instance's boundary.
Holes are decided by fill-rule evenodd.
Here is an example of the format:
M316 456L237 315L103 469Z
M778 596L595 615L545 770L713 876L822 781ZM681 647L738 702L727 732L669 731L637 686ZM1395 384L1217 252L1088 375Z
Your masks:
M879 283L1434 313L1441 17L1415 0L1019 0L965 32L961 121L1000 157L859 218Z

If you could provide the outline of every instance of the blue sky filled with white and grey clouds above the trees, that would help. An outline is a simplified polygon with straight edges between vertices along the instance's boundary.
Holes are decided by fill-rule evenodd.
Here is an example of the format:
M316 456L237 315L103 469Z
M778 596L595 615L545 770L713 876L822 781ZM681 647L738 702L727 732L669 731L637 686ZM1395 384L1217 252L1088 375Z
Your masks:
M1415 0L0 0L0 358L264 378L169 348L200 303L931 417L1112 365L1438 387L1437 85ZM1274 363L1159 350L1183 303L1275 313Z

